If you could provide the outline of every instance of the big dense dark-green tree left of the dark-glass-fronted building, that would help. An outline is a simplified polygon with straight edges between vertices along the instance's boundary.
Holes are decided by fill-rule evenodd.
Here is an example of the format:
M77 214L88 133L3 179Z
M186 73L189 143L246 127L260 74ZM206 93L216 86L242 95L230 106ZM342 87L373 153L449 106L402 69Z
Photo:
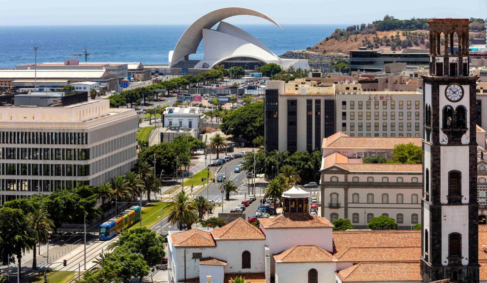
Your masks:
M245 104L223 116L220 128L225 134L246 141L264 136L264 102Z

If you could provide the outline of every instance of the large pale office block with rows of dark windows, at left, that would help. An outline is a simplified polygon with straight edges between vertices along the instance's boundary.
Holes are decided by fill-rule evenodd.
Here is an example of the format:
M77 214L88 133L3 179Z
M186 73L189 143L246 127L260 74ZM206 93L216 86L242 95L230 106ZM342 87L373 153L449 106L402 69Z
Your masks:
M0 203L77 183L97 186L133 167L133 109L111 109L85 92L59 94L0 96Z

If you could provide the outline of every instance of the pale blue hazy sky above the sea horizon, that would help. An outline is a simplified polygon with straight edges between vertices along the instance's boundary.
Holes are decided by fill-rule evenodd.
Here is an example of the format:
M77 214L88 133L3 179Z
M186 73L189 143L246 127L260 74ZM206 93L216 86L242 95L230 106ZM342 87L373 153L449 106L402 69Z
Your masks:
M386 14L397 19L487 17L487 0L0 0L0 26L189 25L231 6L258 10L281 25L370 23ZM251 16L228 22L268 23Z

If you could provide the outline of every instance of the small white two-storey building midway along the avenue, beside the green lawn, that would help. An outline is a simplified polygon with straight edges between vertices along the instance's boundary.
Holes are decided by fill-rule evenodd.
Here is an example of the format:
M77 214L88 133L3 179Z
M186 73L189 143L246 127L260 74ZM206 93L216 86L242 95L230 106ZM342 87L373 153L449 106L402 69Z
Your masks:
M192 128L196 131L196 136L202 124L199 107L167 107L163 119L164 127Z

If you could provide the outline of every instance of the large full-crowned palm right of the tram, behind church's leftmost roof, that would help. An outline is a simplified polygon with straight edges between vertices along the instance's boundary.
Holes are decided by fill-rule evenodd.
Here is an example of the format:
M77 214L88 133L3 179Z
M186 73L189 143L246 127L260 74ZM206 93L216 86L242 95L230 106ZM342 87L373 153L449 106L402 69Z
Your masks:
M163 217L167 216L167 220L172 225L178 223L180 230L183 230L183 224L192 224L194 208L191 205L191 201L189 201L188 195L183 191L173 196L172 201L166 203L162 211L164 212Z

